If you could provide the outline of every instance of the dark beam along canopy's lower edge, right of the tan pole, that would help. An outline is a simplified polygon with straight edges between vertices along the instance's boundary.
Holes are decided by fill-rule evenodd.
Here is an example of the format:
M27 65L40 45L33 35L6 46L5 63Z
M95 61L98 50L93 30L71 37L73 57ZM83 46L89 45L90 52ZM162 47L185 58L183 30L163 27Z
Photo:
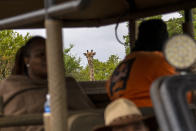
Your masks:
M117 22L120 23L120 22L128 21L130 19L137 20L139 18L174 12L177 10L188 9L188 8L193 8L193 7L196 7L196 1L179 2L179 3L174 3L172 5L165 5L165 6L154 7L154 8L152 7L152 8L142 9L142 10L135 9L135 10L125 12L121 16L119 15L110 16L110 17L107 17L104 19L98 19L98 20L97 19L66 20L64 21L65 23L64 27L99 27L103 25L114 24Z

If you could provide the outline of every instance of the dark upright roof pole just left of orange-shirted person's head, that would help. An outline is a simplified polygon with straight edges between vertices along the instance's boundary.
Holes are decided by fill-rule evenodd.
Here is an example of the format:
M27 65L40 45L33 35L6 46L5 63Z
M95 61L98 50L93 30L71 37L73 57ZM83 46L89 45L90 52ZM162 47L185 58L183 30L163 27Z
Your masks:
M130 19L129 20L129 46L130 52L135 46L135 39L136 39L136 20Z

